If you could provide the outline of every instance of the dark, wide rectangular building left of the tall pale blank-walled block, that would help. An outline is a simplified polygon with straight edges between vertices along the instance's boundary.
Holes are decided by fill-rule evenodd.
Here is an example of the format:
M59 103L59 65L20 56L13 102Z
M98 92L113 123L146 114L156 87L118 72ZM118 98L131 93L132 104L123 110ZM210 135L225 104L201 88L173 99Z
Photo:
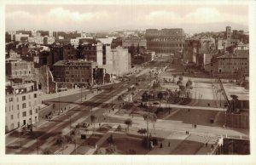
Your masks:
M57 83L93 83L93 68L96 62L86 60L60 60L53 65Z

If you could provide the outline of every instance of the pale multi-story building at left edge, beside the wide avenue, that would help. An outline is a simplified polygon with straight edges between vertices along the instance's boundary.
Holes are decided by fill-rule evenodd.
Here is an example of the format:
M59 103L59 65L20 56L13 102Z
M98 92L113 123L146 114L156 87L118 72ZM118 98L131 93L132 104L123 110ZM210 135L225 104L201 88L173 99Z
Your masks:
M10 83L5 88L5 131L38 122L38 88L36 83Z

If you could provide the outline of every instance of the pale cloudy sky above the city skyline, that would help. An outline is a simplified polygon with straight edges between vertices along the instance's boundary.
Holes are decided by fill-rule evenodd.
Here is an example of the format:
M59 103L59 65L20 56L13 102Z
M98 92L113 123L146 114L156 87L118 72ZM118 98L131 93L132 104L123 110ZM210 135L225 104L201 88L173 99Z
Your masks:
M185 32L247 31L247 5L7 5L7 31L120 31L181 27Z

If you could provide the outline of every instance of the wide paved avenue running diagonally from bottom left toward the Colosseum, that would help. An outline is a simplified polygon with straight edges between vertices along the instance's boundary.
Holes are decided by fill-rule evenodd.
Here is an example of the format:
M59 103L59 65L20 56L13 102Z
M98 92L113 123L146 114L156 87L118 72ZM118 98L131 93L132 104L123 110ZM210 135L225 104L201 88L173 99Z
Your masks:
M127 90L127 88L131 87L131 85L136 82L137 78L145 77L143 74L137 77L134 75L131 76L129 83L115 83L102 87L103 92L101 94L97 94L95 97L67 111L65 114L55 117L54 120L34 129L32 134L23 136L16 134L15 136L18 139L6 145L6 154L36 154L37 149L39 154L42 154L42 151L49 147L51 147L51 151L57 151L59 147L54 145L57 136L60 134L68 134L71 130L70 128L78 122L90 122L90 114L101 117L106 110L112 107L109 103L112 102L113 96ZM78 97L78 94L73 94L72 99L70 99L70 96L61 97L61 105L72 104L73 100L79 99L79 97L76 97ZM48 101L59 103L59 98ZM55 107L59 109L58 104L55 105Z

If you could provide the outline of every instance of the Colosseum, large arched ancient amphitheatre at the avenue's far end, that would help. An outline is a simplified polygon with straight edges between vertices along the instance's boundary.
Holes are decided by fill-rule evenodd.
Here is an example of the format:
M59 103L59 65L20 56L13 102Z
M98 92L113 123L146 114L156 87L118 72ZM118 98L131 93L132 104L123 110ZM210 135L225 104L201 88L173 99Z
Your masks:
M183 29L147 29L146 40L148 50L156 54L173 54L183 50L185 34Z

